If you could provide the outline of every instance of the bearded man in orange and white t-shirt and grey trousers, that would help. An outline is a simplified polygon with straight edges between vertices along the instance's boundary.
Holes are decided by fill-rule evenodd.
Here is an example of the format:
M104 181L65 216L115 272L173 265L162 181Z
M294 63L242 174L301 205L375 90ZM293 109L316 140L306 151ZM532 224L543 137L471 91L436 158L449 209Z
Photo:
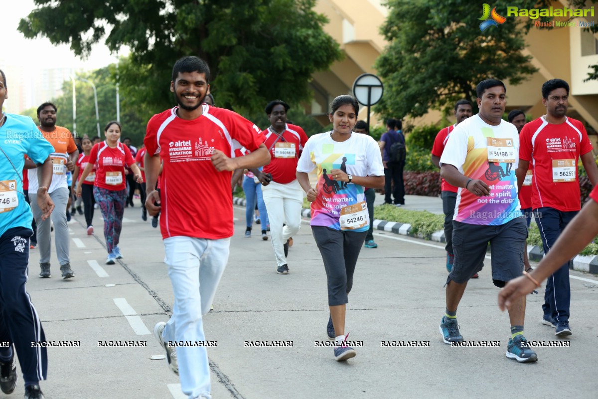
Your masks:
M52 212L51 221L54 223L54 241L56 243L56 257L60 263L62 278L68 279L75 275L71 270L69 258L69 228L66 222L66 206L69 202L71 192L68 189L66 171L75 170L75 163L79 156L77 145L71 132L66 127L56 126L56 105L51 102L44 102L38 107L38 129L45 139L54 147L50 158L53 164L52 183L48 187L48 194L56 212ZM37 170L33 162L27 162L29 170L29 200L33 217L37 223L37 240L39 246L39 266L41 278L50 277L50 252L52 239L50 234L50 219L42 220L42 211L37 206Z

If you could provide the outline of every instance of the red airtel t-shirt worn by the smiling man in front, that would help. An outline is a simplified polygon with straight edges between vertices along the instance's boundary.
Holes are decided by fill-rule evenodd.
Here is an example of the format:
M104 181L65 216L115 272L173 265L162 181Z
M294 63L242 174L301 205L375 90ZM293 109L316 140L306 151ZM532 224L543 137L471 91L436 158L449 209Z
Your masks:
M233 235L231 172L218 172L214 150L234 157L236 148L255 151L263 142L261 130L228 109L202 104L194 120L176 115L178 106L154 115L148 122L145 148L160 154L163 238L174 236L222 239Z

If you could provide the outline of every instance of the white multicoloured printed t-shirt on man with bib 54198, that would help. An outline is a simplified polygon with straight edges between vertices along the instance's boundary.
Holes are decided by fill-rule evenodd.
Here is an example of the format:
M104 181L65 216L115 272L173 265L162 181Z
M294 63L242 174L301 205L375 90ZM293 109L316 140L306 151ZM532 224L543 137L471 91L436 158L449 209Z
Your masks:
M459 188L453 220L498 226L521 216L515 175L519 136L513 124L501 120L493 126L478 114L467 118L451 132L440 163L490 187L490 195L484 197Z

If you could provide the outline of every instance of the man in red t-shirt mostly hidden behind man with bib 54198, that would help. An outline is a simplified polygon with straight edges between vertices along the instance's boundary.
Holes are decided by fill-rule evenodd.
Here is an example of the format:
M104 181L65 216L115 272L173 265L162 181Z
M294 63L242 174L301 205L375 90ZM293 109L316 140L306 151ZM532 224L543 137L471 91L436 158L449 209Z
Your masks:
M460 122L466 120L467 118L471 117L472 109L471 109L471 102L469 100L459 100L454 105L454 116L457 118L456 122L452 126L447 126L444 129L440 130L434 139L434 146L432 147L432 163L440 169L440 157L444 151L444 145L449 140L450 133L453 131L454 127L457 126ZM453 252L453 216L454 216L454 206L457 202L457 191L459 190L458 187L454 187L445 179L443 179L443 183L441 186L441 193L440 196L443 199L443 212L444 212L444 240L447 243L444 246L444 249L447 251L447 270L450 273L450 270L453 268L453 261L454 261L454 252ZM472 276L472 278L478 278L478 274Z

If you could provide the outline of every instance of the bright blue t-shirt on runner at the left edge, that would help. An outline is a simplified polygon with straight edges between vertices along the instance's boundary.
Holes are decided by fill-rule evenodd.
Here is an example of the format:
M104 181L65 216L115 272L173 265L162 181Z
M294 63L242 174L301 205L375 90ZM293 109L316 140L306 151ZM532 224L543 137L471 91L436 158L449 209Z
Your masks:
M13 227L31 229L33 214L23 195L22 173L25 155L39 164L53 153L54 148L42 136L31 118L14 114L6 114L4 126L0 127L0 142L3 143L2 150L6 153L6 156L0 153L0 236L2 236ZM37 169L31 170L36 171L32 179L37 182ZM15 247L24 245L20 242L14 244Z

